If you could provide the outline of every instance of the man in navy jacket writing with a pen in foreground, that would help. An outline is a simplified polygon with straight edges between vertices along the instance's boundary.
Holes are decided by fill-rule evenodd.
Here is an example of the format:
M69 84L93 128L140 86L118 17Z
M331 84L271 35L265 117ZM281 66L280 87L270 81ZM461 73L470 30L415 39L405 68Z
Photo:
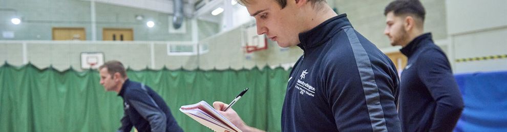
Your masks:
M281 47L299 46L282 108L282 131L400 131L394 64L324 0L239 0ZM243 131L227 105L216 110Z

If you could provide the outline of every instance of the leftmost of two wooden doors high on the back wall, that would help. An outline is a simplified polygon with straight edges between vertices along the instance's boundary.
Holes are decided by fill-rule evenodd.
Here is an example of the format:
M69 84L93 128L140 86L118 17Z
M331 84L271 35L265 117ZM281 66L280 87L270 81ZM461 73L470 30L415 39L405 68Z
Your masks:
M53 40L86 40L85 28L53 28Z

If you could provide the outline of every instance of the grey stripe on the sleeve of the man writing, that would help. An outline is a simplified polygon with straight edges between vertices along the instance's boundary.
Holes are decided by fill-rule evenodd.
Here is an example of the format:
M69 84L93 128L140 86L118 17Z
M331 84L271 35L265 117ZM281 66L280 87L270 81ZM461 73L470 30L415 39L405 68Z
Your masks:
M384 111L380 102L380 94L378 93L378 87L375 83L375 76L370 58L357 38L354 29L345 28L344 31L348 36L347 38L354 52L355 63L357 64L359 75L361 76L372 130L387 131L386 119L384 118Z

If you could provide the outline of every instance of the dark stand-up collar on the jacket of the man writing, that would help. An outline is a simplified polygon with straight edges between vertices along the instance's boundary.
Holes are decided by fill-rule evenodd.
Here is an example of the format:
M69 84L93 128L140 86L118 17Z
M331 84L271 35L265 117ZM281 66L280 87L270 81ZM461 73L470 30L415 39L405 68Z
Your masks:
M347 25L351 26L347 14L334 16L317 25L317 27L307 32L300 33L299 40L301 43L298 44L298 46L303 49L303 51L306 51L307 49L322 45L339 32L340 28Z

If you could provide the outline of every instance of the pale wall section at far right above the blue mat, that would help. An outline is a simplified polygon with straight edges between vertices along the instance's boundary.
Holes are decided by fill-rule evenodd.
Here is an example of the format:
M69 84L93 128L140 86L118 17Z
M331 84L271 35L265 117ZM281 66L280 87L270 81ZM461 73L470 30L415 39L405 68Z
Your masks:
M447 0L454 59L507 54L507 1ZM507 70L507 59L454 63L455 73Z

